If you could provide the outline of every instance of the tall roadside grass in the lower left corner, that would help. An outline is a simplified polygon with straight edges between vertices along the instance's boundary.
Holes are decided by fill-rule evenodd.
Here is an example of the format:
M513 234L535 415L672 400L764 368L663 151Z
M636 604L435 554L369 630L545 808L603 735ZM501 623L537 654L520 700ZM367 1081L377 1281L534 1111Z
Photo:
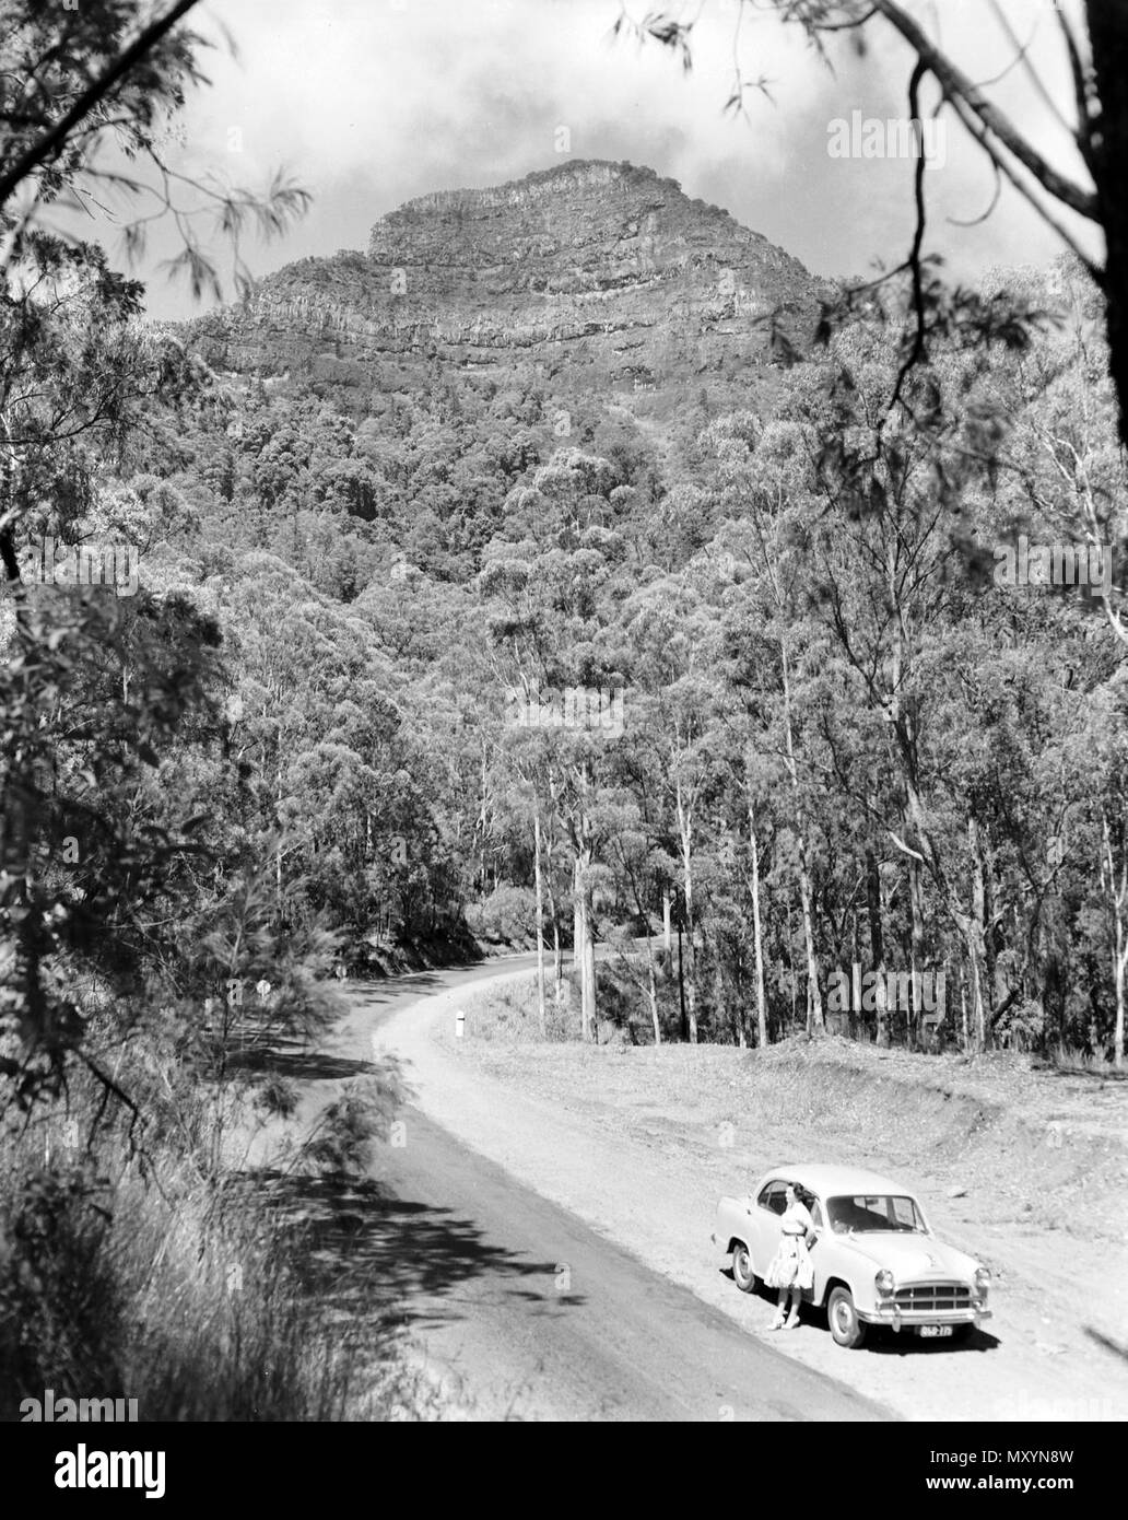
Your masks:
M306 1269L303 1231L260 1173L240 1170L233 1138L248 1096L173 1091L149 1152L125 1119L85 1145L93 1090L0 1122L0 1418L47 1388L56 1400L135 1398L155 1421L435 1412L386 1318L333 1307ZM363 1131L356 1113L345 1119L334 1164ZM330 1120L322 1142L331 1134Z

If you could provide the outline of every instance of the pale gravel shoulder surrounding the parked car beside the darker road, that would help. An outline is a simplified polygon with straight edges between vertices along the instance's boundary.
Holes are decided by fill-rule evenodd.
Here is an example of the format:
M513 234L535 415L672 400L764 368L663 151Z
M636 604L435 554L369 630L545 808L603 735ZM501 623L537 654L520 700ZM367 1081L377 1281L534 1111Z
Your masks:
M1128 1418L1125 1087L1061 1079L1046 1099L1002 1064L926 1070L932 1058L838 1041L756 1056L486 1038L515 977L528 983L508 971L412 1003L372 1040L410 1062L417 1105L464 1143L903 1418ZM996 1274L985 1330L962 1347L880 1336L847 1353L807 1313L772 1335L769 1303L736 1290L710 1231L718 1196L781 1158L856 1161L920 1190L938 1234Z

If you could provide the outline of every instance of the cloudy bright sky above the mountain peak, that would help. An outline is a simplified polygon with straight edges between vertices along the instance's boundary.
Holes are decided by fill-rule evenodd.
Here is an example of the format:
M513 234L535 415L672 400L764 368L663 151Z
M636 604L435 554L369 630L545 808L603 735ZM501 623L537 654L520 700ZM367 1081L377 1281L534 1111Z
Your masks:
M635 20L648 8L661 9L660 0L625 5ZM1085 182L1058 119L1069 119L1072 91L1050 0L908 8L971 78L1002 73L991 99L1058 169ZM283 167L313 193L283 240L246 246L255 274L365 248L372 222L412 196L502 184L566 158L645 164L819 275L863 275L877 258L903 258L912 161L830 152L833 123L850 123L854 111L859 122L908 116L912 55L886 26L867 27L862 58L848 36L833 40L829 67L797 27L763 9L669 0L664 9L683 20L699 12L686 73L657 43L613 38L620 9L619 0L210 0L193 24L216 40L227 26L239 56L222 44L204 55L211 85L190 97L182 146L172 141L167 152L187 173L251 187ZM1016 62L997 12L1040 85ZM743 117L724 112L737 67L753 82ZM935 102L926 84L924 108ZM1047 263L1060 239L1008 185L985 222L955 225L987 211L994 179L950 112L939 120L926 176L927 246L959 278ZM105 219L97 236L122 257ZM175 246L164 228L137 269L160 319L199 310L158 268Z

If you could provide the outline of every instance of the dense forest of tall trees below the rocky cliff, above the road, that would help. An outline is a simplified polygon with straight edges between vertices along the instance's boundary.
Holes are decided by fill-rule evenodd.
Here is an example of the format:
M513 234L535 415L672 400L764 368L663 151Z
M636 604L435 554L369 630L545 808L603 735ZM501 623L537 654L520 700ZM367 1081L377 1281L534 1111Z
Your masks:
M1000 575L1020 535L1116 564L1101 302L1066 260L996 284L1057 319L938 350L897 426L897 298L778 363L771 409L655 416L518 356L503 389L217 377L167 483L207 524L181 575L240 649L258 827L295 830L289 912L330 912L351 958L389 915L404 942L467 915L521 938L537 815L549 935L657 932L667 898L687 1031L749 1038L756 838L769 1032L862 962L947 968L971 1044L1110 1043L1119 591ZM512 725L512 692L576 687L622 690L623 731Z

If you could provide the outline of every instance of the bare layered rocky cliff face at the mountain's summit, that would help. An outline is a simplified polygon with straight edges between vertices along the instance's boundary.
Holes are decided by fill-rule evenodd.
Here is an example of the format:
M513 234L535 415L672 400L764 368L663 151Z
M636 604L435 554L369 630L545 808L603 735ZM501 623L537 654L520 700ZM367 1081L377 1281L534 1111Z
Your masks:
M759 233L631 164L570 160L490 190L409 201L366 254L307 258L193 324L213 363L318 354L505 369L611 391L736 378L803 347L824 287Z

